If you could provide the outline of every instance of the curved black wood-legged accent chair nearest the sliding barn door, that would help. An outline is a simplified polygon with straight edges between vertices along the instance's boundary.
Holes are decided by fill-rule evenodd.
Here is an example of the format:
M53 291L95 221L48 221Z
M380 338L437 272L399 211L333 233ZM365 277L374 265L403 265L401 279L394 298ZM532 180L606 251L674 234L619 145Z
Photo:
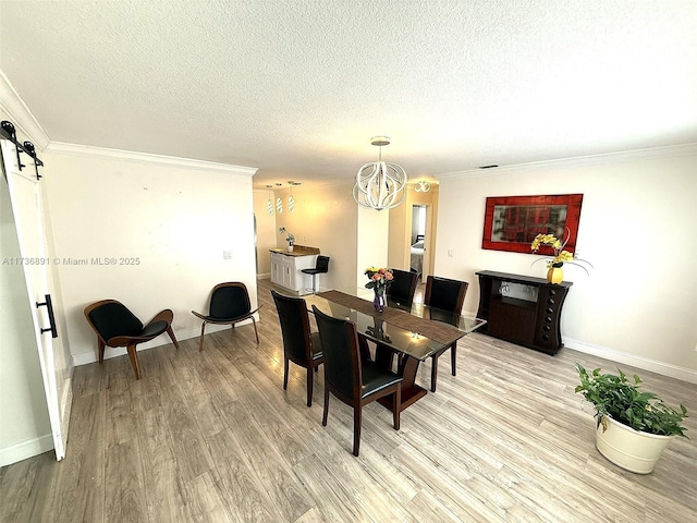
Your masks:
M169 308L159 312L147 325L143 325L129 308L117 300L101 300L85 307L85 318L97 333L99 363L105 361L105 346L125 346L135 372L135 379L140 379L138 366L138 343L150 341L167 332L179 350L179 342L172 330L174 314Z

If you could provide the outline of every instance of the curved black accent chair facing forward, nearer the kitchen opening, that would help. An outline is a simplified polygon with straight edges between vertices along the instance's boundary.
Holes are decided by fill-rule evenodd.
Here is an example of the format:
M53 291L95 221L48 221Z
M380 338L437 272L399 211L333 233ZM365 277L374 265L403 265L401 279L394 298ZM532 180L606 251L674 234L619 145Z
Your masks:
M252 311L252 303L249 302L247 287L240 281L229 281L213 287L213 290L210 293L208 315L203 315L192 311L194 316L204 320L204 324L200 326L200 342L198 343L198 350L204 350L204 331L206 330L207 324L232 325L232 328L234 329L235 324L246 319L252 319L252 324L254 325L254 335L257 338L257 343L259 343L257 323L254 319L254 314L259 311L259 308L261 308L261 305Z

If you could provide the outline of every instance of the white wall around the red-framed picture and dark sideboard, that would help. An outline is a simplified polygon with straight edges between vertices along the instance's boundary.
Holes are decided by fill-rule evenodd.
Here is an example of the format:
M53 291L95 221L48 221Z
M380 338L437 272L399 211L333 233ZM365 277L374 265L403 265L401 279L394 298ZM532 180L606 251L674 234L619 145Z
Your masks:
M481 248L486 197L571 193L584 194L577 254L595 269L564 266L565 344L697 382L695 145L441 178L435 272L472 283L469 314L476 271L543 277L535 255Z

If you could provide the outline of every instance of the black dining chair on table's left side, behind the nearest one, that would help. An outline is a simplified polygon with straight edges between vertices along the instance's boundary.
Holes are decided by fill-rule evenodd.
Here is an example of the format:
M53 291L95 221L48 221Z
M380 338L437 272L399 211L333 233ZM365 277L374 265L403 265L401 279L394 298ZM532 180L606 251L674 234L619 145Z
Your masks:
M307 369L307 406L313 406L314 374L325 362L319 332L311 332L307 303L271 291L283 336L283 390L288 389L289 362Z

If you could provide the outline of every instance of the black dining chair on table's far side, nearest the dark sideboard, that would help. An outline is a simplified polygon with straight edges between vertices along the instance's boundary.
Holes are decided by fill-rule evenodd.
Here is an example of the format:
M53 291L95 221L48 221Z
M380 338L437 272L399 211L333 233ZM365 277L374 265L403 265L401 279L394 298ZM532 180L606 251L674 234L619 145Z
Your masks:
M453 318L460 318L462 306L465 303L465 294L467 294L466 281L451 280L437 276L429 276L426 279L426 293L424 304L431 308L447 311L452 313ZM439 319L439 318L433 318ZM436 381L438 379L438 358L450 349L451 372L456 376L457 361L457 342L441 349L431 356L431 392L436 392Z

